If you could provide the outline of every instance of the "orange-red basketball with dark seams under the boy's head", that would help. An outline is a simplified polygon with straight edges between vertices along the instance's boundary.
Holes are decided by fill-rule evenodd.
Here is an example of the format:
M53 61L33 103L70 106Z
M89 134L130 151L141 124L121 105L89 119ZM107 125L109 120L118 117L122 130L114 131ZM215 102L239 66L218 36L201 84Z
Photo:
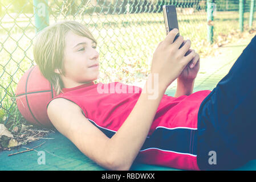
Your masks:
M53 127L47 115L47 102L55 97L55 90L37 65L27 70L18 82L16 102L23 117L34 125Z

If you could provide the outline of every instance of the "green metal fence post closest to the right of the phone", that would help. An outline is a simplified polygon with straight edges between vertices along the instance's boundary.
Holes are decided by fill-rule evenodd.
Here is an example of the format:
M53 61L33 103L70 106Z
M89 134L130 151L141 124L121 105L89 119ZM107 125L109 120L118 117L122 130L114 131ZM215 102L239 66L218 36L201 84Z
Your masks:
M207 0L208 42L213 43L213 0Z

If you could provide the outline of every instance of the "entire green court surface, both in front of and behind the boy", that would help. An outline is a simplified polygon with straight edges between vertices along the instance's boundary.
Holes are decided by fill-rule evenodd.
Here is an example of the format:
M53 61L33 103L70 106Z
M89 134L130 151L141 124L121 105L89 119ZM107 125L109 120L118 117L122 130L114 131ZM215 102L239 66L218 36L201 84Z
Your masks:
M212 90L218 81L229 72L234 61L237 60L250 40L251 38L248 38L240 44L235 44L235 46L229 45L222 47L220 48L220 55L201 59L200 72L196 78L194 92ZM175 84L170 85L168 90L166 90L166 94L174 96L175 90ZM70 140L58 132L51 133L45 139L31 142L23 147L32 148L39 144L42 144L42 146L35 148L36 151L24 152L17 155L8 156L9 154L18 152L18 149L0 152L0 170L106 170L83 155ZM26 149L19 149L19 151L23 150ZM39 151L43 151L45 154L45 164L38 163L38 160L39 162L41 161L40 157L42 156L38 155ZM172 171L179 169L133 163L130 170ZM251 160L245 166L236 170L256 170L256 160Z

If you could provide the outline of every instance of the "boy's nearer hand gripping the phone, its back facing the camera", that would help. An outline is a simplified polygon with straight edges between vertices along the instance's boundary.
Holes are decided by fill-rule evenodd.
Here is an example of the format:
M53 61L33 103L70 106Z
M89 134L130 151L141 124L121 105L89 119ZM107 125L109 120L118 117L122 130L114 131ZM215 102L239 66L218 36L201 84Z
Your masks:
M193 50L185 55L189 51L190 41L187 41L179 49L183 38L178 36L177 40L173 42L177 34L178 30L176 28L170 31L153 53L151 73L156 73L159 76L159 85L164 88L167 88L176 80L189 61L196 55L196 52Z

